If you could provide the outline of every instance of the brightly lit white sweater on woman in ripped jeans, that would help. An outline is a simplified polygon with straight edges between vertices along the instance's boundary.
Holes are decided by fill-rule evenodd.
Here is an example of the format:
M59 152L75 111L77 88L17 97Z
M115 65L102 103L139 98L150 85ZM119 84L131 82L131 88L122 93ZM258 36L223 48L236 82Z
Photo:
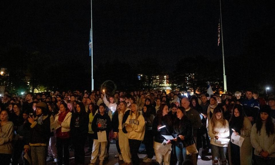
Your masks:
M209 121L208 135L211 138L210 144L213 144L215 146L220 146L220 147L228 146L228 144L215 143L215 136L219 136L219 138L228 138L228 136L229 136L229 124L228 124L227 120L225 120L225 122L226 122L225 127L223 126L223 124L221 122L217 122L215 128L212 128L211 120ZM213 134L213 132L216 132L216 134Z

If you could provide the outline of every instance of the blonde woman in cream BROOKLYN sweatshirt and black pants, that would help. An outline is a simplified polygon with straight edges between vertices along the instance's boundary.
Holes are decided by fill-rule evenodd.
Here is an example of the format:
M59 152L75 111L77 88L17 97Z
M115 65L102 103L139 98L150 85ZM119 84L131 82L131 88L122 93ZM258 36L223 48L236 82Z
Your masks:
M125 122L133 165L140 164L137 152L145 134L145 120L139 111L136 103L131 104L131 112Z

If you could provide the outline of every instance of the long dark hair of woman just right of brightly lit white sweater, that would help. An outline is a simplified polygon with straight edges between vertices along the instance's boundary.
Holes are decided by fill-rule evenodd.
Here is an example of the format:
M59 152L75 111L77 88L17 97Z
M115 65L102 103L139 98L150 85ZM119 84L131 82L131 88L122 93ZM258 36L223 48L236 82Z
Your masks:
M234 115L234 111L237 109L240 113L240 116L236 117ZM233 108L232 116L229 122L230 128L233 128L235 131L239 132L241 128L243 128L243 120L244 120L244 111L241 105L235 105Z

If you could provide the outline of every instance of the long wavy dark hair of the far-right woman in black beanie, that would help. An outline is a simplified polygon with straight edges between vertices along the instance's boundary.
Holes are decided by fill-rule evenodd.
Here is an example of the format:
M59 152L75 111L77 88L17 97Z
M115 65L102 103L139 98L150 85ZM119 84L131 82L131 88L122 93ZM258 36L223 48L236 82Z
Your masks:
M270 107L269 107L268 105L263 106L263 107L262 107L262 110L263 110L263 109L267 109L267 108L270 109ZM258 118L257 118L257 120L256 120L257 133L259 133L259 135L261 134L261 128L262 128L262 126L263 126L263 122L262 122L262 119L261 119L261 112L260 112L260 113L258 113ZM275 133L274 124L273 124L273 122L272 122L272 119L271 119L271 115L270 115L270 114L268 115L268 118L267 118L267 120L266 120L265 126L266 126L266 134L267 134L268 137L269 137L270 135L272 135L272 134Z

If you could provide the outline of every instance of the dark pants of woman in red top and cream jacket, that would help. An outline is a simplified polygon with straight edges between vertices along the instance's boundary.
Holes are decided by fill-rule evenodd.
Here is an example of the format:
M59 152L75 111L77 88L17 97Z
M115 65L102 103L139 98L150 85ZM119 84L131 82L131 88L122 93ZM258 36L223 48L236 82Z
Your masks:
M58 154L58 165L62 165L62 162L64 160L64 165L69 165L69 158L70 158L70 152L69 152L69 145L70 145L70 138L58 138L56 137L56 148L57 148L57 154Z

